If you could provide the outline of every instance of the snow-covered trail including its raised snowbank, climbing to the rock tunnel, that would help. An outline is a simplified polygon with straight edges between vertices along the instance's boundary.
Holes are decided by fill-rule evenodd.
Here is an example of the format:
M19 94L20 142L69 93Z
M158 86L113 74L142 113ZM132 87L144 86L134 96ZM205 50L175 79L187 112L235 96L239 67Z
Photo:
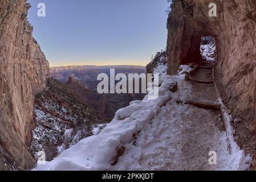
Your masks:
M147 95L143 101L131 102L130 106L118 110L113 121L98 135L80 140L58 158L38 164L37 169L247 169L250 158L234 142L231 127L228 134L225 131L220 110L186 104L186 101L194 102L198 98L218 103L214 85L202 82L209 80L209 70L196 69L193 81L185 81L185 75L182 75L194 71L188 65L181 67L179 76L161 76L157 100L149 100ZM199 77L205 80L198 81ZM176 83L177 92L171 92L170 88ZM120 146L124 150L116 152ZM116 153L120 154L113 163ZM216 164L209 163L213 153L216 154Z

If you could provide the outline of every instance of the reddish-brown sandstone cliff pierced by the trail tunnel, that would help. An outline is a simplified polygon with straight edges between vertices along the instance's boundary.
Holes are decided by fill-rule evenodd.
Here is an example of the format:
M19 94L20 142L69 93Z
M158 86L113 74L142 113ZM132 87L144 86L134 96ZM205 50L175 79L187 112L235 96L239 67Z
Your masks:
M216 0L217 17L210 17L211 0L174 0L168 17L168 72L178 65L200 62L201 36L217 43L217 76L233 112L256 126L256 1ZM254 130L254 131L253 131ZM249 131L248 131L249 133Z

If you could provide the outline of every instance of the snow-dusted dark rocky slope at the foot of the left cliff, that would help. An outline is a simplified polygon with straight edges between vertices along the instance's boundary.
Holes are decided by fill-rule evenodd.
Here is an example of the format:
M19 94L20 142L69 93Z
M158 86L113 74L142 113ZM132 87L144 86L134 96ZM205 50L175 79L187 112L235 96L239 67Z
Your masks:
M35 104L36 128L32 131L32 154L46 153L52 160L80 139L92 135L100 122L90 104L69 86L49 78L47 87L37 94Z

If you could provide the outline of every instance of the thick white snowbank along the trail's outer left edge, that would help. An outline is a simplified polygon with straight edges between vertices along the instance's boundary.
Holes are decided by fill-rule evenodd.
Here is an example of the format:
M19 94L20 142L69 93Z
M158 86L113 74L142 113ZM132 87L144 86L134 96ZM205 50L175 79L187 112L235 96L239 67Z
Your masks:
M132 101L128 107L117 110L115 118L98 135L80 140L51 162L38 164L36 169L80 171L111 168L111 159L116 149L131 142L133 134L143 130L145 124L159 113L161 106L172 98L170 86L184 78L185 75L160 77L157 100L149 100L147 95L142 101Z

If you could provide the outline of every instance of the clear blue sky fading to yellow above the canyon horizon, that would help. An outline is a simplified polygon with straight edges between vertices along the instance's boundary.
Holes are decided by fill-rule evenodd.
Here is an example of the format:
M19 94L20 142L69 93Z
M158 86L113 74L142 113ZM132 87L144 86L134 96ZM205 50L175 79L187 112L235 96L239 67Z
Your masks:
M166 46L166 0L29 0L50 66L147 65ZM46 17L37 16L45 3Z

